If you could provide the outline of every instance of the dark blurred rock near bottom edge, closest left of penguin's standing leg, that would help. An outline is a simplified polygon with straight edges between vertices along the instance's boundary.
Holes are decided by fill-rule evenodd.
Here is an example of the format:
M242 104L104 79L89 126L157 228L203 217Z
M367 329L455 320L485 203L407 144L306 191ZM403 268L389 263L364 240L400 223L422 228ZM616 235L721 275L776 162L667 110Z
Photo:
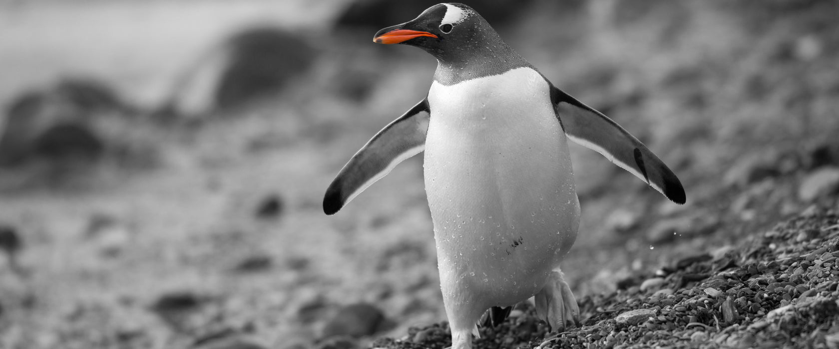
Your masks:
M384 314L375 305L367 303L347 305L326 322L323 336L368 336L376 333L383 321Z

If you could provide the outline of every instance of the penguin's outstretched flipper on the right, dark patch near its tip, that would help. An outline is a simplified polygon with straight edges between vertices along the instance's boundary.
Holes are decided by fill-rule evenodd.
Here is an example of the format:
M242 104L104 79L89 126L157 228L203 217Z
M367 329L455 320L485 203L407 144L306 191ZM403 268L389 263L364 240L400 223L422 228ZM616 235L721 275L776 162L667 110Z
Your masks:
M550 100L571 141L601 153L674 203L685 203L685 188L679 178L644 143L601 112L554 86L550 89Z

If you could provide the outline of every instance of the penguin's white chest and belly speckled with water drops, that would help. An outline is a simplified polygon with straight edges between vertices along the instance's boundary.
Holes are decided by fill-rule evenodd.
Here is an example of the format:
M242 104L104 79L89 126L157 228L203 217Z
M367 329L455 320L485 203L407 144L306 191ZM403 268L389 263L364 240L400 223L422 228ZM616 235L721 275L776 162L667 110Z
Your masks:
M527 299L576 239L571 159L549 93L529 68L431 85L425 191L452 302Z

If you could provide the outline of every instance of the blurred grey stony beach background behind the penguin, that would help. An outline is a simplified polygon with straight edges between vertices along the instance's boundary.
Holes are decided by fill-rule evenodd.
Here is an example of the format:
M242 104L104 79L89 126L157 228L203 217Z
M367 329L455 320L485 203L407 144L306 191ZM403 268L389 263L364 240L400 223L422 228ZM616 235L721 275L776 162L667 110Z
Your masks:
M373 33L433 4L0 1L0 347L355 347L445 320L421 157L320 206L431 83ZM839 3L467 4L687 191L572 145L578 300L837 208Z

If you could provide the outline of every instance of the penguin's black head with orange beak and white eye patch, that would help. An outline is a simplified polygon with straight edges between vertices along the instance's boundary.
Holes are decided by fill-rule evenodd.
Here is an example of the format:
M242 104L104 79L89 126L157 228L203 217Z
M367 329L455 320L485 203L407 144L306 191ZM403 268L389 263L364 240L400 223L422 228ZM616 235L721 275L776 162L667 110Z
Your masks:
M373 42L416 46L445 59L487 34L497 35L472 8L462 3L440 3L409 22L379 30Z

